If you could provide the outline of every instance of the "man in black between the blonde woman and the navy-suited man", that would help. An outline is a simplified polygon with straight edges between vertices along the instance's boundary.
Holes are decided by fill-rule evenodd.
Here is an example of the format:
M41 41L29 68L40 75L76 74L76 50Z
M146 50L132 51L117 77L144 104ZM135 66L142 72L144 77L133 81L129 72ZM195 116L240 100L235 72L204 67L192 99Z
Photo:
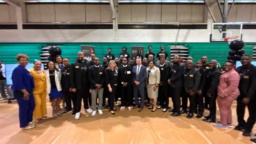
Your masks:
M127 64L127 59L123 59L123 64L118 68L118 81L121 84L121 108L125 109L127 104L128 111L131 111L131 86L132 86L132 68Z

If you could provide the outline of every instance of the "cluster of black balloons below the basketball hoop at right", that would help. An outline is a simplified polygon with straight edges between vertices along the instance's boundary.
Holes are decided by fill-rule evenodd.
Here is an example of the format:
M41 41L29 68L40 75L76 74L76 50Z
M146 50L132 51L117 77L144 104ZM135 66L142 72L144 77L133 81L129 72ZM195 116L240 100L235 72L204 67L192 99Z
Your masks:
M242 40L234 40L229 44L229 48L231 51L228 53L228 60L239 61L241 56L245 53L244 49L244 42Z

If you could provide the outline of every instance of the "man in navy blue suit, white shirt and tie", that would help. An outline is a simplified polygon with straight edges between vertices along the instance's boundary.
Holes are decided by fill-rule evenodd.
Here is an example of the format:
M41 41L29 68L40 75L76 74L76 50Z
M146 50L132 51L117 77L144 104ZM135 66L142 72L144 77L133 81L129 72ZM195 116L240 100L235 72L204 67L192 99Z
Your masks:
M139 107L139 111L141 112L144 107L144 88L145 88L145 80L147 78L146 75L146 67L144 67L141 64L142 60L141 58L136 59L137 66L134 66L132 68L133 72L133 92L134 92L134 99L135 99L135 106L132 109L137 109ZM139 98L138 98L138 91L141 96L141 101L139 104Z

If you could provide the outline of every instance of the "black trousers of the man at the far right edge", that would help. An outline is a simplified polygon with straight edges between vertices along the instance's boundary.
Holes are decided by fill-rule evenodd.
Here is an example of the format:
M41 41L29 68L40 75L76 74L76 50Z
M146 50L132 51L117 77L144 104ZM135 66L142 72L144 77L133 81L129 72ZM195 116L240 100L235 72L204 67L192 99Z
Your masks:
M256 99L250 100L250 102L247 104L248 111L249 111L249 117L247 119L247 122L244 120L244 112L246 105L242 103L244 97L239 96L237 98L237 120L238 125L241 127L244 127L245 131L251 132L253 125L256 121Z

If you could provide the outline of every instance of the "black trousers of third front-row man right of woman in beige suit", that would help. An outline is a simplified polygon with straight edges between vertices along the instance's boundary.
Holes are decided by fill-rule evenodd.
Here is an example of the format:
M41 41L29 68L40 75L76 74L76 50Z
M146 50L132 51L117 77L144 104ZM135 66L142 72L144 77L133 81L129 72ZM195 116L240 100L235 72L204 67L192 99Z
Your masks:
M189 99L189 113L194 113L196 111L196 95L190 96L189 93L183 92L182 95L182 109L187 110L187 99Z

